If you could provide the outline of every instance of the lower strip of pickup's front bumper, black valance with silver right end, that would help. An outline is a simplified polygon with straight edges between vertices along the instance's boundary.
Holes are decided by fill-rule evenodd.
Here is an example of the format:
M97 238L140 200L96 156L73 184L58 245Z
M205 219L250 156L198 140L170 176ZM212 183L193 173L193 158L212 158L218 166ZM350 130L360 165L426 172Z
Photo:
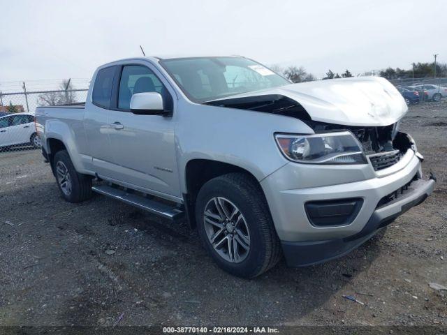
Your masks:
M381 228L393 222L397 216L423 202L432 193L433 188L433 179L418 179L414 181L405 195L386 204L386 206L376 209L365 227L350 237L326 241L282 241L282 249L287 265L290 267L314 265L346 255L373 237Z

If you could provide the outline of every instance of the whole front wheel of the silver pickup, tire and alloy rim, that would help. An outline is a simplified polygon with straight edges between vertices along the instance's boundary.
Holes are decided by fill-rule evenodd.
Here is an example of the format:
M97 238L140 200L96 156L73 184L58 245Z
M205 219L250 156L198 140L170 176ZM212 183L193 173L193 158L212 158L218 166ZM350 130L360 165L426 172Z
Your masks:
M281 257L263 191L248 174L225 174L207 181L197 196L196 218L208 253L230 274L253 278Z

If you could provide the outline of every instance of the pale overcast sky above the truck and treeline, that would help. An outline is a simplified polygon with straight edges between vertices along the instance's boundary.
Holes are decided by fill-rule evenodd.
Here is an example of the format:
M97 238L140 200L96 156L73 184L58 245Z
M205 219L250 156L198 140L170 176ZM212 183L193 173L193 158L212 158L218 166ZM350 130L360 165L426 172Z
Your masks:
M446 0L1 0L0 89L146 54L241 54L318 77L447 62ZM6 5L7 3L7 5Z

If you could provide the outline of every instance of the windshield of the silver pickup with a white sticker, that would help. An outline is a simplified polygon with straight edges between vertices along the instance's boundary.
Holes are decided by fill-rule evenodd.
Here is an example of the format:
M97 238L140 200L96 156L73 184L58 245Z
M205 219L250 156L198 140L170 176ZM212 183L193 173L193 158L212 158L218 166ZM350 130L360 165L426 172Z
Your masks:
M197 103L290 84L281 75L242 57L164 59L160 63L184 94Z

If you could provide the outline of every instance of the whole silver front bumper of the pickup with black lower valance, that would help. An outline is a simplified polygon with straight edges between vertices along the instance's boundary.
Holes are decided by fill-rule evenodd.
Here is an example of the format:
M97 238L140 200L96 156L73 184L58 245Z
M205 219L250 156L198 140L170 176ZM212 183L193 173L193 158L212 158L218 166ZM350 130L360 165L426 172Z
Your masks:
M288 163L263 179L261 186L288 264L300 266L348 253L423 202L432 193L434 180L421 178L420 159L409 149L398 163L379 171L371 165ZM388 198L408 185L396 199ZM306 204L338 200L362 204L351 221L329 226L310 222Z

